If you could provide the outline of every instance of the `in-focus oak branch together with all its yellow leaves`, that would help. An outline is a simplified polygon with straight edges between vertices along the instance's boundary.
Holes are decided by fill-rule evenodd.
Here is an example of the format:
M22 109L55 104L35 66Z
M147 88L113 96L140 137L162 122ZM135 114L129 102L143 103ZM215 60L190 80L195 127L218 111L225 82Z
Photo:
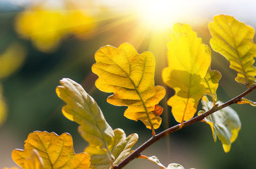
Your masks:
M254 30L228 15L214 17L209 29L213 36L210 42L212 49L227 58L231 68L238 72L235 80L245 84L251 92L256 84L256 68L253 65L256 46L252 42ZM95 53L95 61L92 71L98 75L96 87L113 93L107 98L108 103L127 106L125 117L141 120L152 130L153 137L147 145L175 130L204 120L211 126L214 140L219 137L224 151L228 152L231 143L238 137L241 123L237 113L226 106L235 103L255 106L254 102L243 98L248 92L226 104L218 101L216 90L221 73L211 70L209 46L202 43L190 25L174 25L168 43L168 67L163 69L162 74L165 84L175 90L175 95L167 104L172 107L173 116L180 125L160 134L156 134L155 129L161 125L163 108L158 103L165 96L165 89L154 84L156 63L153 54L149 51L138 54L131 44L124 43L118 48L103 46ZM146 144L131 151L138 135L127 137L122 129L112 130L94 99L80 84L67 78L62 79L60 84L57 95L66 102L62 113L79 124L78 132L89 145L83 153L74 154L69 134L57 136L53 132L33 132L28 135L24 150L16 149L12 153L13 160L21 168L122 168L133 158L146 158L160 168L166 168L155 156L140 154L146 149ZM199 111L198 116L193 118L200 99L204 111ZM167 168L183 167L172 163Z

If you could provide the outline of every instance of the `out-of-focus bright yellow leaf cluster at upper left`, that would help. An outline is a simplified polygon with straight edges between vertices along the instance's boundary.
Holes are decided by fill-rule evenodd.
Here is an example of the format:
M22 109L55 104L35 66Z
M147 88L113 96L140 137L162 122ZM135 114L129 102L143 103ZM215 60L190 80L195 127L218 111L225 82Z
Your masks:
M67 35L88 38L95 30L93 15L78 1L64 1L64 8L49 8L45 1L33 4L16 18L16 30L44 52L54 51ZM38 33L40 32L40 33Z

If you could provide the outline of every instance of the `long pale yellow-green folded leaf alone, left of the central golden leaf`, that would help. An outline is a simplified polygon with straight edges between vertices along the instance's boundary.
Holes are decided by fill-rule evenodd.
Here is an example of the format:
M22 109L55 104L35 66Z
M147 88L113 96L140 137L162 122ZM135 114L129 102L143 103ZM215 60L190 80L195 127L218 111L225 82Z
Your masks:
M60 99L66 102L62 108L63 115L75 121L79 126L79 133L89 143L88 154L108 154L114 142L114 131L106 122L102 111L94 99L86 93L80 84L64 78L60 80L62 86L56 89Z

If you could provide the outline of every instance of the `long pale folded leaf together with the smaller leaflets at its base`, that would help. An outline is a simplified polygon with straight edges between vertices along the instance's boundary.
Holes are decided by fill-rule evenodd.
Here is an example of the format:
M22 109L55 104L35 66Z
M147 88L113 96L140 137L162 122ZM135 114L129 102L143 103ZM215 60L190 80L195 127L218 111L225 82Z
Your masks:
M80 124L78 131L89 142L85 152L91 156L91 168L105 169L120 163L132 152L138 135L127 137L121 129L113 131L96 102L80 84L70 79L62 79L60 83L57 94L67 104L62 112L66 118Z

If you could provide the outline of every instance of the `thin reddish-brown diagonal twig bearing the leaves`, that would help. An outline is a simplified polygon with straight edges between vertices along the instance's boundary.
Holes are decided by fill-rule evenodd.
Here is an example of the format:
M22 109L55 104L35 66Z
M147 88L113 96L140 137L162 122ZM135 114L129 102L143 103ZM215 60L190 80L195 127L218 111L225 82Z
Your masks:
M239 94L238 96L235 96L233 99L227 101L226 103L222 104L221 106L216 105L213 108L211 108L211 110L206 111L205 113L202 113L202 115L198 115L198 116L196 116L196 117L194 117L190 120L187 120L185 123L183 123L182 128L187 127L188 125L192 125L194 123L197 123L197 122L203 120L206 116L211 115L212 113L214 113L216 111L219 111L222 108L225 108L226 106L230 106L231 104L236 104L238 101L240 101L240 99L243 98L243 96L249 94L254 89L256 89L256 85L250 87L249 89L247 89L242 94ZM157 142L159 139L165 137L166 135L168 135L172 132L175 132L177 130L180 130L180 129L181 129L180 124L178 124L178 125L175 125L173 127L168 128L167 130L164 130L163 132L161 132L159 134L156 134L154 137L151 137L148 141L144 142L144 144L139 146L139 148L136 149L132 154L130 154L127 158L125 158L124 161L122 161L118 165L115 165L114 169L123 168L124 165L127 165L127 163L129 163L129 161L132 161L134 158L138 158L141 155L141 152L144 151L149 146L151 146L151 144L153 144L154 142Z

